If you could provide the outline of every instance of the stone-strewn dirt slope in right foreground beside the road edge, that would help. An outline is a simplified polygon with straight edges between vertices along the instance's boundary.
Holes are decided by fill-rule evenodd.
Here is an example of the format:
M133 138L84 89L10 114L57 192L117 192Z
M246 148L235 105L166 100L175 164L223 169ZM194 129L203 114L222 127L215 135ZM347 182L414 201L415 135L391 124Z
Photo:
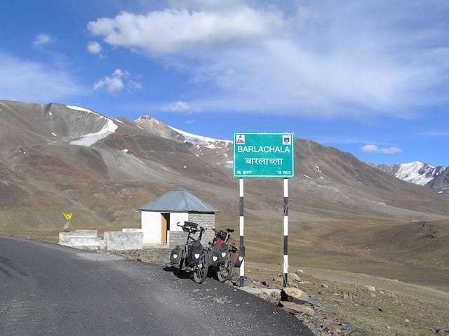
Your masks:
M449 293L441 290L351 272L307 268L295 273L300 281L290 285L319 302L315 309L321 316L347 321L370 335L435 335L438 328L449 328ZM270 288L281 288L279 267L248 262L246 274ZM326 324L326 318L309 323Z

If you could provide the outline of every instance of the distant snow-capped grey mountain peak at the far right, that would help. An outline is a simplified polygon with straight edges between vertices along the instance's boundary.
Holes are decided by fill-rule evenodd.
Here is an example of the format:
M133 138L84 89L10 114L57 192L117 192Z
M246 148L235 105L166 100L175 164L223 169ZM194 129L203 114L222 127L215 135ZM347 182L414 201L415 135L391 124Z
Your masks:
M420 161L374 166L398 179L449 194L449 167L434 167Z

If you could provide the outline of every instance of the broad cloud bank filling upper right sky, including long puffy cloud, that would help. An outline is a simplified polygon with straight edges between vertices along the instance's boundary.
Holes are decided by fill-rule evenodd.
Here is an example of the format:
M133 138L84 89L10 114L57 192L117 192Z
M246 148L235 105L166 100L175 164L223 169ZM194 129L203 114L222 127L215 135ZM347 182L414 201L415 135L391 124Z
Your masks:
M309 1L288 15L256 1L170 4L88 29L207 86L190 102L201 110L403 117L449 100L449 4L441 1Z

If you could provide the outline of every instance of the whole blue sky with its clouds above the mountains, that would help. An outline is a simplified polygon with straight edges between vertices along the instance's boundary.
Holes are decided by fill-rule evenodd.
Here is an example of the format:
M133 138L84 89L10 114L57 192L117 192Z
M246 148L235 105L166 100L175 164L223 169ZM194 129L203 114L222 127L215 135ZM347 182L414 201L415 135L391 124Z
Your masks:
M448 1L4 1L0 99L449 166L448 18Z

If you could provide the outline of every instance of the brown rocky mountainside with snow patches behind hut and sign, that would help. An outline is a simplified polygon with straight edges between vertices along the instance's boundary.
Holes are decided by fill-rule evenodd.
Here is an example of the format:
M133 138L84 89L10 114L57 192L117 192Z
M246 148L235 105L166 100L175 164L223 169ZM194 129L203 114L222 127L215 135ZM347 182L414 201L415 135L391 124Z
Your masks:
M290 220L438 220L449 198L396 179L351 154L295 140ZM60 104L0 102L0 233L53 235L62 212L78 227L138 227L138 206L183 186L236 222L232 143ZM246 215L281 218L279 180L246 180Z

